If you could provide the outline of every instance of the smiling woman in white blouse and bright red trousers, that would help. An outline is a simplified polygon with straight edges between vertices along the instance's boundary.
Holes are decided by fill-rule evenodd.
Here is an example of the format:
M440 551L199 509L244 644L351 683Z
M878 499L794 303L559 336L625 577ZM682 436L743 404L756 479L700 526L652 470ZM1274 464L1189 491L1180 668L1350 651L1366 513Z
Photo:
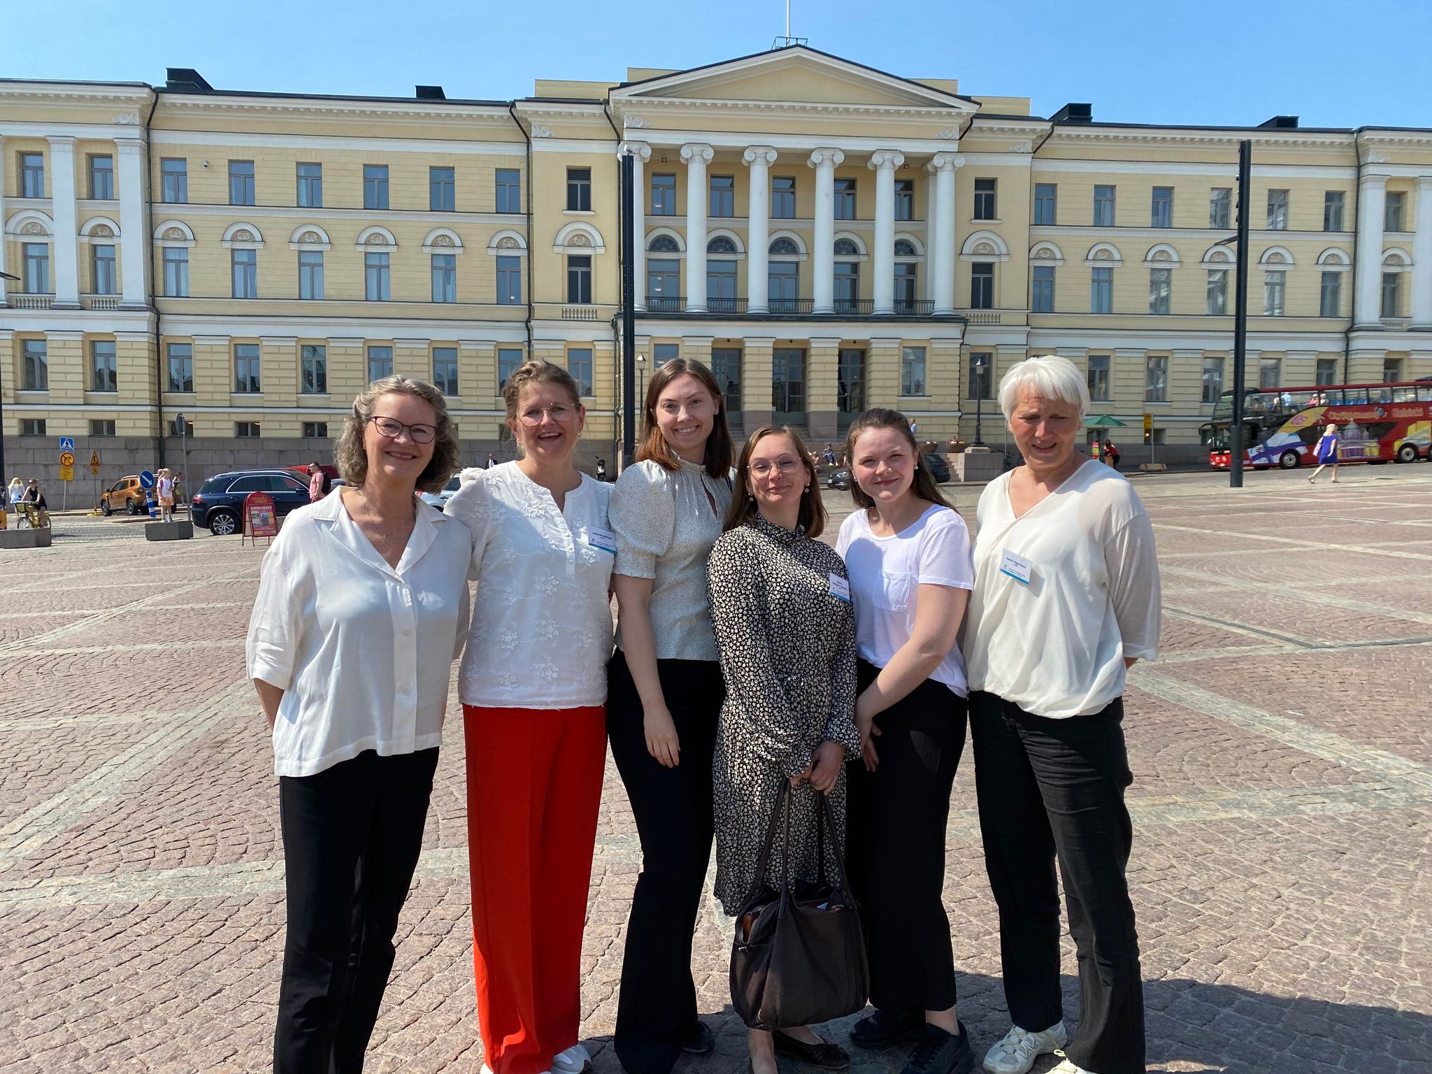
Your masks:
M558 365L507 379L521 457L470 470L447 514L473 531L467 739L477 1020L495 1074L580 1074L581 928L606 762L611 487L580 474L586 412Z

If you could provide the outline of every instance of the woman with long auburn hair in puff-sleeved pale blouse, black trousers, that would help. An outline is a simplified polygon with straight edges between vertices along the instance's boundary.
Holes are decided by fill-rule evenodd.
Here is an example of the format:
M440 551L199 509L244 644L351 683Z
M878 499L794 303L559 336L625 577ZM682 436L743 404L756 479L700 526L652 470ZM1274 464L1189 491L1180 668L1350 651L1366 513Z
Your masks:
M735 450L710 369L674 358L652 374L637 461L611 488L617 650L607 735L637 833L616 1053L629 1074L667 1074L715 1038L696 1017L692 934L712 848L712 752L725 686L706 558L730 504Z

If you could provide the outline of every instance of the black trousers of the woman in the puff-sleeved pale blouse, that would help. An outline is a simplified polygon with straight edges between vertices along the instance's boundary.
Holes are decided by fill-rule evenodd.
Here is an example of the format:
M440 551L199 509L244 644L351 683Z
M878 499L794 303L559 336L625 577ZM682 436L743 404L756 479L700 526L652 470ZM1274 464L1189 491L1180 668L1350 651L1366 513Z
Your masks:
M696 1031L692 937L710 861L712 753L726 686L715 660L657 660L680 763L646 749L642 699L626 656L607 664L607 735L642 836L642 875L632 896L616 1053L630 1074L667 1074Z

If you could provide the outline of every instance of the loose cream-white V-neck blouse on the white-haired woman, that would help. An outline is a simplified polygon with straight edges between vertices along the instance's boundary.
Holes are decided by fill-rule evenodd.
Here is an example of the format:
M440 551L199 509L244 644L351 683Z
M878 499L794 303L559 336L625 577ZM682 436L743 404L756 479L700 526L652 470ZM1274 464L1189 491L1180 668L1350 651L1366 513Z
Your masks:
M1126 657L1158 654L1158 558L1138 494L1088 460L1020 518L1001 474L979 497L978 517L964 637L969 689L1035 716L1100 712L1124 692ZM1021 561L1027 583L1015 577Z

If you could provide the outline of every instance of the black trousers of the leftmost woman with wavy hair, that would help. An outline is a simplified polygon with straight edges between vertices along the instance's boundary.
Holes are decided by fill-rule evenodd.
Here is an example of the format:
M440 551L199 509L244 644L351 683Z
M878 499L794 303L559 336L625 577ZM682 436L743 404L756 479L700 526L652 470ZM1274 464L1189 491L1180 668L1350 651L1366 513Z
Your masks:
M357 1074L422 849L437 749L279 778L288 932L274 1074Z

